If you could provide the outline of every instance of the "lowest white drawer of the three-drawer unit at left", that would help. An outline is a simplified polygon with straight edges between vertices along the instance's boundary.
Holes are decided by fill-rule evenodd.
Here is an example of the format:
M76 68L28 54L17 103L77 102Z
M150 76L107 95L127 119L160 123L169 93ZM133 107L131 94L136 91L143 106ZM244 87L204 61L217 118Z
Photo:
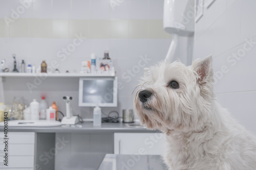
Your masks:
M8 167L4 165L3 159L0 160L0 169L2 168L33 168L34 156L9 156Z

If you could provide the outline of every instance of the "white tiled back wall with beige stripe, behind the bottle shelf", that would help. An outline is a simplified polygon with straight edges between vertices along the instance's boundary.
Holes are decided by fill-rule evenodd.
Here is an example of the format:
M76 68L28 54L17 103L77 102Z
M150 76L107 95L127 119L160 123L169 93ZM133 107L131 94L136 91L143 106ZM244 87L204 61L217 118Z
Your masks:
M57 60L61 72L79 72L81 61L90 59L91 53L103 57L104 50L109 50L118 81L124 88L118 91L118 107L103 108L102 111L108 113L117 110L121 113L122 109L131 109L132 91L138 83L138 77L143 75L143 69L129 82L124 78L125 72L138 64L140 56L151 59L146 66L164 59L171 36L164 33L162 28L164 0L119 2L122 3L113 10L109 0L36 0L8 28L4 17L10 17L11 9L16 10L20 1L0 0L0 59L7 59L7 65L12 69L12 54L15 53L19 64L22 59L36 66L42 59L47 62ZM75 33L83 33L87 38L62 62L56 54L73 42ZM71 95L74 97L75 114L92 117L92 108L78 107L78 79L49 78L29 93L26 83L33 81L6 79L6 103L11 104L14 96L23 96L27 103L33 98L40 101L40 95L46 94L48 104L56 101L59 110L65 112L62 96Z

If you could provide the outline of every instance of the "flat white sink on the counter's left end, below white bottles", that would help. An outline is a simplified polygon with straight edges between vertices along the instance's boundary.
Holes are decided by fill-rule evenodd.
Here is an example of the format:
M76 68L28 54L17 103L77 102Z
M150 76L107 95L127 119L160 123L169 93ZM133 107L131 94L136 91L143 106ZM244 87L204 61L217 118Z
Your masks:
M56 120L8 120L8 127L56 127L61 123ZM4 122L0 122L4 127Z

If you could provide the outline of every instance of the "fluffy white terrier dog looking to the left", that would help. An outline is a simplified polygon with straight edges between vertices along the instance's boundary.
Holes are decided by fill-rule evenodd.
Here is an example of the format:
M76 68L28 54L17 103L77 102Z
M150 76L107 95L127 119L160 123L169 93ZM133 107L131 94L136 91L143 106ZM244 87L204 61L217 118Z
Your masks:
M186 67L160 62L145 72L134 100L148 129L166 134L170 169L256 169L256 138L216 101L212 58Z

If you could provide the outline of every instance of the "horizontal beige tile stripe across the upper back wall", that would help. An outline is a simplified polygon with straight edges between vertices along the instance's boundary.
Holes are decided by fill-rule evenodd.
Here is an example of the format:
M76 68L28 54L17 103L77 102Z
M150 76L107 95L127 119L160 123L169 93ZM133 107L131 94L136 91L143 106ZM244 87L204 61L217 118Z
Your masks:
M10 22L0 18L0 37L75 38L171 38L161 19L76 20L20 18Z

